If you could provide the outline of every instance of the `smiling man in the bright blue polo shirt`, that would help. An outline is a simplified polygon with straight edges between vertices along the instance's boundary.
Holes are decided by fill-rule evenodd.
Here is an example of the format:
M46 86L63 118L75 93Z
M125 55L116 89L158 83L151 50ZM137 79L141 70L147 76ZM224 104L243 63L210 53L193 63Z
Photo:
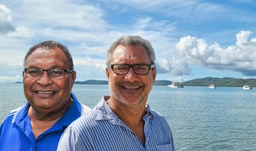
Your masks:
M90 110L71 93L75 78L65 45L44 41L31 47L23 71L28 103L2 122L0 150L56 150L66 127Z

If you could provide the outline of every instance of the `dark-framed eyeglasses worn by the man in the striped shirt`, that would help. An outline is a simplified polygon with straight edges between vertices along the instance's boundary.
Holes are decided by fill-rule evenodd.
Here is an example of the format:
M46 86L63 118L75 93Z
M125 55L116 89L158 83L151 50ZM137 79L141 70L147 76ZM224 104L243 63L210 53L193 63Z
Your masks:
M133 72L138 75L145 75L149 73L150 69L155 68L155 64L111 64L111 69L115 74L127 74L130 68L133 68Z

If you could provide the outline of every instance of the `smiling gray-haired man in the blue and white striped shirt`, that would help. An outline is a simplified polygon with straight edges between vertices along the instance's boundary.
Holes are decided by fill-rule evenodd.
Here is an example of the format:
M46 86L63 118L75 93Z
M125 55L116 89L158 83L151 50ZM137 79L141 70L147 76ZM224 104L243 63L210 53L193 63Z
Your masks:
M107 55L111 96L63 133L58 150L175 150L167 120L148 103L156 77L151 43L127 35Z

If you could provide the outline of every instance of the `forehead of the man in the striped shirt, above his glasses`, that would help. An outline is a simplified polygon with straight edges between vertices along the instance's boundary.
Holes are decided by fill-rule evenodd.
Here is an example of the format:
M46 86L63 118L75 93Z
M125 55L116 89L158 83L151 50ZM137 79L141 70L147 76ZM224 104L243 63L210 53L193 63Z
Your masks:
M111 63L150 64L146 49L140 45L119 45L113 52Z

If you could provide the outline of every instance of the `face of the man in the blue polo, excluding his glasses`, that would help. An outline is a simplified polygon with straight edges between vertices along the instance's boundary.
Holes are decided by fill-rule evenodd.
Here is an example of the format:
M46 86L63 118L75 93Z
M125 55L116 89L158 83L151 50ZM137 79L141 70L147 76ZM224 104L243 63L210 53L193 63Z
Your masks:
M25 68L69 69L68 59L60 48L37 48L25 61ZM23 73L24 94L34 110L59 111L71 99L71 89L76 73L65 73L60 79L49 78L46 71L41 77L27 77Z

